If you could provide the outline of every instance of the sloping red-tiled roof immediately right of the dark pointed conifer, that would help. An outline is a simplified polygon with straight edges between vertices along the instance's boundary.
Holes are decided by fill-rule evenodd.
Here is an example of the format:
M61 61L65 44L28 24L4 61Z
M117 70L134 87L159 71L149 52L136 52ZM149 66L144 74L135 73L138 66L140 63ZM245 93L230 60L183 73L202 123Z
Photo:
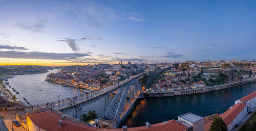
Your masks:
M239 102L236 105L232 106L232 108L221 114L220 117L227 125L229 125L234 120L234 118L236 118L238 114L243 111L245 106L246 103Z

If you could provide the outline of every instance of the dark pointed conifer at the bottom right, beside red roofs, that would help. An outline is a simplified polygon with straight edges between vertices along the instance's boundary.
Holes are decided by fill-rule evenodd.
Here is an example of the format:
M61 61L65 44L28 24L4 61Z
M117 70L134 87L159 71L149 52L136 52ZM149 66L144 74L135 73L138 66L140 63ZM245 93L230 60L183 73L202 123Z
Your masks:
M227 125L219 115L216 115L214 120L210 124L210 131L226 131Z

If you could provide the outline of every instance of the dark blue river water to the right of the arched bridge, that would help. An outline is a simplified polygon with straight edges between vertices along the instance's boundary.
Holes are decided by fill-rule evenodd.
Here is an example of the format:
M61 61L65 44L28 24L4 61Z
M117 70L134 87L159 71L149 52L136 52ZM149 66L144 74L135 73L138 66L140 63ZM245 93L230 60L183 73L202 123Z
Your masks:
M128 127L143 126L177 119L179 115L191 112L199 116L208 116L225 112L234 101L256 90L256 83L242 85L214 92L175 97L144 98L144 106L136 106L126 122L120 123ZM141 102L139 103L141 104ZM124 120L125 121L125 120Z

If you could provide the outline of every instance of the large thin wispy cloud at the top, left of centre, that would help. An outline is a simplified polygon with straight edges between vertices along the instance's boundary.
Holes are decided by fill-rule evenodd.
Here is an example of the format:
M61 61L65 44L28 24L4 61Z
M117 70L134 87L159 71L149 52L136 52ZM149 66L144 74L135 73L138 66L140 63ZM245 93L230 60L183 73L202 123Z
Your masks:
M138 12L113 10L105 5L90 1L65 3L58 7L62 11L73 12L79 22L86 27L101 28L109 21L133 20L143 22L143 16Z

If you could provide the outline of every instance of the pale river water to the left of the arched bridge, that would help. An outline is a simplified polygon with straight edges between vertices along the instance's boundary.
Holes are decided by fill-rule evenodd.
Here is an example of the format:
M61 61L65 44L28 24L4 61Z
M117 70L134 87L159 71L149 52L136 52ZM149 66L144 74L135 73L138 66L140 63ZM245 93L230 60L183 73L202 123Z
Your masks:
M27 98L31 105L46 104L47 102L53 102L62 99L71 98L80 95L80 89L63 87L58 84L45 82L47 74L57 73L58 70L48 70L46 73L38 74L24 74L16 75L13 78L9 78L8 82L12 88L14 88L19 94L12 91L11 88L8 89L13 95L25 103L23 97ZM81 92L84 94L83 92ZM88 113L90 110L95 110L98 116L101 116L103 108L103 99L89 104L83 108L83 113ZM69 114L71 115L71 114Z

